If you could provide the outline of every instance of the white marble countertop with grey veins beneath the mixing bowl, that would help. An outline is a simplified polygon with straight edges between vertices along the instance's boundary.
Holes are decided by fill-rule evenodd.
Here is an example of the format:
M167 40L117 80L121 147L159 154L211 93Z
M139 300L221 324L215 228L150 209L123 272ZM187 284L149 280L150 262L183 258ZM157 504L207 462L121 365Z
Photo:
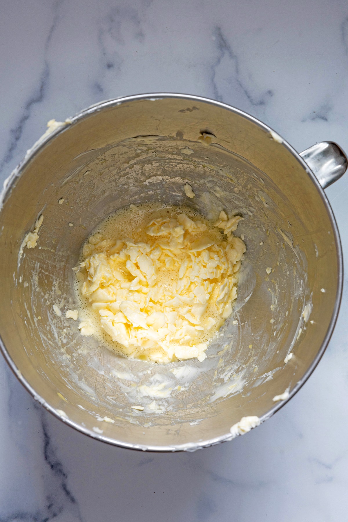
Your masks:
M0 17L2 180L52 117L140 92L235 105L301 151L348 151L345 0L12 0ZM327 195L348 257L348 174ZM346 281L345 281L346 283ZM244 437L196 453L93 441L0 361L0 520L347 520L348 293L299 393Z

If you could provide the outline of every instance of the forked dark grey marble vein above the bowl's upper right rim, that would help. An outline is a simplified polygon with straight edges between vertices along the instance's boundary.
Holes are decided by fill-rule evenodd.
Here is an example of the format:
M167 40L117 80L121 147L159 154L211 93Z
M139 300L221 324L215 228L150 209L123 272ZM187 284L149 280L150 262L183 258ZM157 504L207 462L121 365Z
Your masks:
M217 68L221 64L224 56L227 54L227 56L229 56L230 60L234 63L234 67L235 67L235 78L234 79L235 79L237 85L244 92L246 98L251 103L251 105L253 105L253 106L266 105L267 101L273 96L274 92L271 89L268 89L259 98L255 98L254 96L252 96L252 94L243 84L242 80L239 78L240 67L239 67L238 57L233 52L231 45L227 42L227 40L222 32L221 27L219 27L219 26L215 27L215 29L213 31L213 35L215 38L214 42L215 42L215 45L217 46L217 50L218 50L217 58L211 66L211 69L212 69L212 79L211 80L212 80L212 84L213 84L214 98L216 100L223 101L222 96L221 96L218 86L217 86L217 82L215 81L215 78L216 78Z

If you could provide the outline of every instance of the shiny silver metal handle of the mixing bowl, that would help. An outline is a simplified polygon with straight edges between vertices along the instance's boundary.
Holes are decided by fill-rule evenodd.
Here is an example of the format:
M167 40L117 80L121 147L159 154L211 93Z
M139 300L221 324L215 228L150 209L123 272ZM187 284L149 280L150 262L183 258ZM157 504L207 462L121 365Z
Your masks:
M337 143L321 141L300 152L322 188L337 181L347 170L348 159Z

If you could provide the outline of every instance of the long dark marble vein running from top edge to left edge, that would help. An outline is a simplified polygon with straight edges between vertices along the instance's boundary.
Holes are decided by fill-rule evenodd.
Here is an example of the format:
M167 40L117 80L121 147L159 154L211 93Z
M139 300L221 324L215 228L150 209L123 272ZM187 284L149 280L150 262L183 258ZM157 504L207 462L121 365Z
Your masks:
M31 94L31 97L25 104L25 107L23 109L22 115L20 116L17 125L10 129L10 140L9 140L9 146L7 149L7 152L5 154L5 157L0 162L0 173L3 171L4 167L6 167L7 163L9 163L13 157L14 153L18 147L18 142L23 134L23 129L25 127L26 122L29 120L32 110L35 105L43 101L47 88L49 87L49 79L50 79L50 67L47 62L46 56L47 52L49 50L50 42L52 40L53 33L56 29L58 20L59 20L59 14L58 9L59 6L63 3L64 0L56 0L53 4L53 22L51 24L49 33L47 34L47 38L45 40L44 44L44 66L42 69L42 73L40 75L39 81L38 81L38 87L34 90L34 92Z

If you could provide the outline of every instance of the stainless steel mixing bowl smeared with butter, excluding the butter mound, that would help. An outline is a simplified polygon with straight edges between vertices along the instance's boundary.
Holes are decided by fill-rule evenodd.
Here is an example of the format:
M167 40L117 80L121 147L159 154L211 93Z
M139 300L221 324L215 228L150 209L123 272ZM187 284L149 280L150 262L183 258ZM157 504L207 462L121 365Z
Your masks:
M322 187L346 158L331 143L301 156L242 111L181 94L100 103L35 145L0 213L1 346L20 382L66 424L128 448L196 449L231 438L244 416L269 418L284 404L273 397L287 388L292 397L318 363L342 290ZM143 201L244 217L237 303L203 363L130 361L65 318L83 240L113 210ZM38 245L20 256L40 215Z

